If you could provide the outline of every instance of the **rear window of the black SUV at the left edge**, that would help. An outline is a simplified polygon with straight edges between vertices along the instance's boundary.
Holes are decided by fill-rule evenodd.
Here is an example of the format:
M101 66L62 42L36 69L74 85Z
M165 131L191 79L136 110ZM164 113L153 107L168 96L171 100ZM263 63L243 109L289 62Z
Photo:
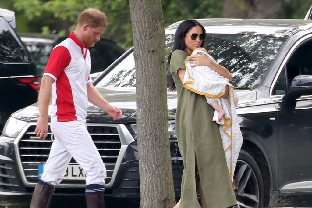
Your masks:
M26 48L12 35L9 23L0 18L0 62L30 62Z

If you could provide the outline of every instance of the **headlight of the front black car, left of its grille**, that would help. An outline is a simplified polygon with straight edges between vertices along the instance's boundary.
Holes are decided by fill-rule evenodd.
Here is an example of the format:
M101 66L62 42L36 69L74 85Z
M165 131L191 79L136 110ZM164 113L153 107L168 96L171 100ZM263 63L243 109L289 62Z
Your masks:
M2 131L3 136L16 138L22 129L27 125L27 121L22 121L14 117L10 117Z

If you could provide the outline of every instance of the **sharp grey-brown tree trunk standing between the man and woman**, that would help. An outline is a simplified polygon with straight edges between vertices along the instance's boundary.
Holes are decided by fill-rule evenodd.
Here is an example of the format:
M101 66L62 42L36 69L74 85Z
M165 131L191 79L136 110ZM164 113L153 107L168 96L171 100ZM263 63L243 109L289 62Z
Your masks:
M130 0L137 87L140 207L175 204L161 0Z

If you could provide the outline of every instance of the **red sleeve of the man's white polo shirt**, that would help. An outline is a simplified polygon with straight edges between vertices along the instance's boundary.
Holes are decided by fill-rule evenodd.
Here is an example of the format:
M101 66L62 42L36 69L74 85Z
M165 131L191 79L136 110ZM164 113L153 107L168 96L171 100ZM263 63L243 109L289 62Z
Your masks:
M64 46L58 46L52 50L44 73L50 73L58 78L70 62L71 54L68 49Z

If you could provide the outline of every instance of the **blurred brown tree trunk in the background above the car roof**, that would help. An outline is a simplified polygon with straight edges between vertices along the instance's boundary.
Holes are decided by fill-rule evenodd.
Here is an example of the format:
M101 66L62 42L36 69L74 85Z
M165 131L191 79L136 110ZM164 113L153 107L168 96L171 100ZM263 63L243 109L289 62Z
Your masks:
M223 0L224 18L285 18L284 0Z

